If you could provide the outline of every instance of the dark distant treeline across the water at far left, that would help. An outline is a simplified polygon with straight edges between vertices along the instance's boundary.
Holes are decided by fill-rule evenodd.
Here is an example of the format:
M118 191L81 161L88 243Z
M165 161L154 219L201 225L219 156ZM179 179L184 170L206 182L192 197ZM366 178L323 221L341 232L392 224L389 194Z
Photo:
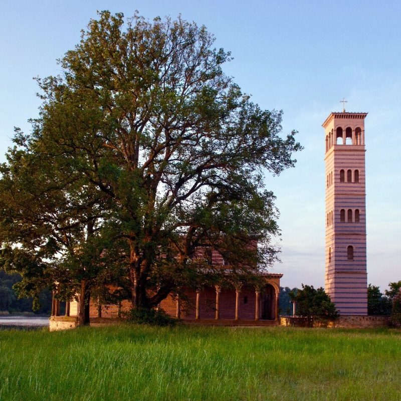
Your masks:
M9 313L32 312L32 298L18 299L13 285L21 281L21 276L17 273L7 274L0 270L0 311ZM41 307L35 313L49 314L52 310L52 293L44 290L39 297Z

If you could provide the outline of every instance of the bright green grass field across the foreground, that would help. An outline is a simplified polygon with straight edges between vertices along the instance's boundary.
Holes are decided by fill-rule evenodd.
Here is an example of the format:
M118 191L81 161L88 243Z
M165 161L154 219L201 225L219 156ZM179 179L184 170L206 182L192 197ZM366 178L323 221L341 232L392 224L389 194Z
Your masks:
M0 400L400 400L401 331L0 330Z

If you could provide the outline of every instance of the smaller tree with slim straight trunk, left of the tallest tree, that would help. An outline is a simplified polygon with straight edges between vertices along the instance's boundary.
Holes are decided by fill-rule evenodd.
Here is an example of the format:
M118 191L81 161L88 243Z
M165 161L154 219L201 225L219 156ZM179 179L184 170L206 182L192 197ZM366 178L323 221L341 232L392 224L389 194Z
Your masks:
M15 287L36 308L45 287L65 299L80 293L79 321L88 323L91 288L105 277L108 199L72 166L49 158L39 141L19 130L14 141L0 166L0 266L22 274Z

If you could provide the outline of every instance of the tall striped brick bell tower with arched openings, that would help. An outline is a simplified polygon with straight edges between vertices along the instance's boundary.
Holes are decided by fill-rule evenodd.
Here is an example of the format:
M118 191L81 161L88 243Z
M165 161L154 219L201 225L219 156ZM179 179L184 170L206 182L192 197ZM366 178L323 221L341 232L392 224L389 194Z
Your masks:
M326 165L325 290L341 315L367 315L365 131L367 113L330 113Z

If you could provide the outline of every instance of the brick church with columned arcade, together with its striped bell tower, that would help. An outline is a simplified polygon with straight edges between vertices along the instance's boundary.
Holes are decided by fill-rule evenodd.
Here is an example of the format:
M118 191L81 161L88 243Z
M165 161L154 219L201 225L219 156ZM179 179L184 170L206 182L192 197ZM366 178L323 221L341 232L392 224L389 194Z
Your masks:
M367 113L332 112L325 131L325 291L341 316L367 315L365 131ZM212 265L224 268L212 252ZM261 273L263 285L235 289L219 286L186 291L185 300L170 294L159 307L184 321L203 323L279 324L280 273ZM58 301L55 301L56 303ZM77 316L78 301L66 314ZM131 308L90 304L90 317L117 318ZM57 315L57 305L54 314Z

